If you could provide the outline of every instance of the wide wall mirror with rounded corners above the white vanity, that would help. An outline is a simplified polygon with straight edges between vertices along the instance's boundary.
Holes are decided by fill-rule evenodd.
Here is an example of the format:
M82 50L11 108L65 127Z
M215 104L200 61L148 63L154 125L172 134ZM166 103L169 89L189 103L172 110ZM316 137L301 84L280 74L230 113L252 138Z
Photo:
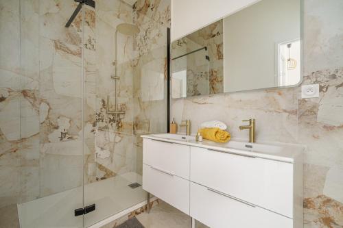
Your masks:
M297 86L302 0L261 0L171 43L171 97Z

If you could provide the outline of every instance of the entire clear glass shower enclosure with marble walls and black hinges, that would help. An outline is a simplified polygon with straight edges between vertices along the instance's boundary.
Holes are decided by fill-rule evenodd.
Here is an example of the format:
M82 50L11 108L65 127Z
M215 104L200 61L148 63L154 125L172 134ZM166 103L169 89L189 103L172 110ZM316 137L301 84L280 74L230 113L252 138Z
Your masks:
M91 227L146 200L140 136L167 131L169 21L94 3L0 0L0 227Z

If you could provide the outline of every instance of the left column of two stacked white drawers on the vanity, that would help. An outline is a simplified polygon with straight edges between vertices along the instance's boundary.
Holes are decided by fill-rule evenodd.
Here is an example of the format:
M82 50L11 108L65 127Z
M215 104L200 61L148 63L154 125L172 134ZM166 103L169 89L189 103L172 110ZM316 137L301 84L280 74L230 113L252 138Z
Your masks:
M143 189L189 214L190 147L143 140Z

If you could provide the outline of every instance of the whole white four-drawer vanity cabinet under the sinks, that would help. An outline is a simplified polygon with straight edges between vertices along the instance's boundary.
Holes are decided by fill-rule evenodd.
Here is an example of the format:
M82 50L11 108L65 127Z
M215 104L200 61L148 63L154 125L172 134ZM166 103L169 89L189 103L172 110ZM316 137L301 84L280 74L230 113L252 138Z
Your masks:
M143 189L211 228L303 227L302 156L255 145L144 138Z

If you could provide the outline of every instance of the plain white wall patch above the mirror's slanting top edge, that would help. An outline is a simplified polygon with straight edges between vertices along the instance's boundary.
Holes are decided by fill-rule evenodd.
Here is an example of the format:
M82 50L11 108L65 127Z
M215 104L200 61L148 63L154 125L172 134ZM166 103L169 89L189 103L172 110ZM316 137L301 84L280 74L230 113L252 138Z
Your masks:
M171 0L171 41L259 0Z

